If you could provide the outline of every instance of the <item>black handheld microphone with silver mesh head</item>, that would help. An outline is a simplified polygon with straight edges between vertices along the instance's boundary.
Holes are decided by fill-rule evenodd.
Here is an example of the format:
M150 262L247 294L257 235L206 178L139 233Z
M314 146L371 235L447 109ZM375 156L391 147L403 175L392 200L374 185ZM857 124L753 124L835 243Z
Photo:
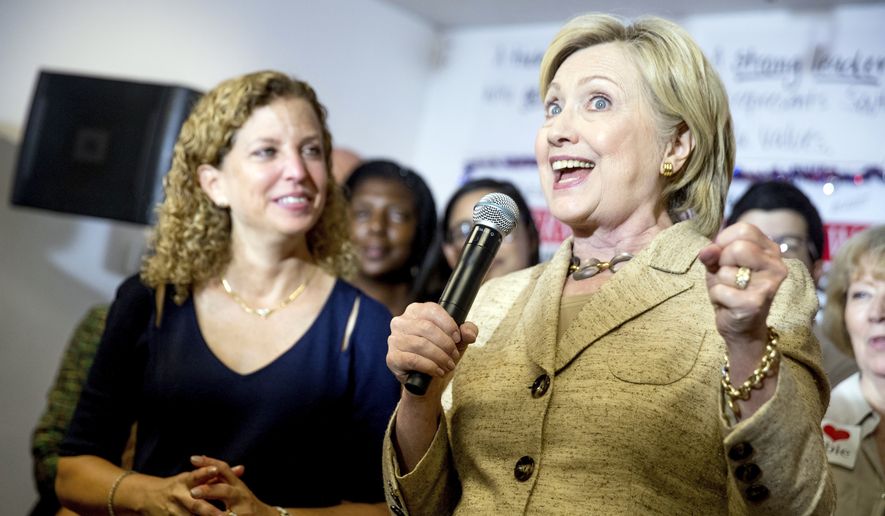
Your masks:
M509 235L519 220L519 208L513 199L502 193L490 193L473 207L473 230L458 258L458 265L449 277L439 297L439 305L452 316L460 327L479 286L495 259L504 237ZM406 378L406 390L417 396L427 392L430 375L412 371Z

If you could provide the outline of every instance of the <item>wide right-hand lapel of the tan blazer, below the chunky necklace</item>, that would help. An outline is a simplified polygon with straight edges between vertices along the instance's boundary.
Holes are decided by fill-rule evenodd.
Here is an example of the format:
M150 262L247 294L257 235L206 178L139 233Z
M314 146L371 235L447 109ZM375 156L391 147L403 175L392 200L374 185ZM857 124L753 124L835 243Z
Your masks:
M698 250L708 243L709 240L696 233L689 222L680 222L657 235L584 305L555 348L554 371L558 373L568 366L600 337L691 288L693 282L688 271ZM552 330L548 333L555 340L558 297L551 304L556 313Z

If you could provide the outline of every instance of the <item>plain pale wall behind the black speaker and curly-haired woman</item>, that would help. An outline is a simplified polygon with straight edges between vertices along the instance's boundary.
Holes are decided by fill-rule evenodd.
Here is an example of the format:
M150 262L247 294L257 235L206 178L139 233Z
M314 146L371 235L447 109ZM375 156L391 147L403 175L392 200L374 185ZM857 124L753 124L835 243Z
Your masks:
M436 35L377 0L0 4L0 500L36 498L29 436L86 309L137 263L142 228L9 206L38 69L208 89L275 68L315 86L336 141L408 163Z

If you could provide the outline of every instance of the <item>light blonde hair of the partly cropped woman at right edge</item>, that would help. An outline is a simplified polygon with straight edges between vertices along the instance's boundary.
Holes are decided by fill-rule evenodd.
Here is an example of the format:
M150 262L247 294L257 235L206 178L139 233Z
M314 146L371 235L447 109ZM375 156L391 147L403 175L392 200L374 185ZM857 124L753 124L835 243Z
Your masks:
M885 226L865 229L845 242L827 273L827 304L824 305L824 335L839 351L854 356L845 327L845 304L851 283L870 273L885 279Z

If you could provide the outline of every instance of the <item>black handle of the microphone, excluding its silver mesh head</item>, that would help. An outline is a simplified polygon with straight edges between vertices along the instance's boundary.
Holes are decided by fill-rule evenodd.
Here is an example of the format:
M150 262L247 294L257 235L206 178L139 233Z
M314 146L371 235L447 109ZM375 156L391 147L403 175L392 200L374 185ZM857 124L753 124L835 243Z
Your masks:
M449 277L439 305L452 316L459 327L467 319L482 280L492 266L495 253L501 247L503 235L497 230L482 225L473 231L461 249L461 256L452 275ZM406 390L416 396L423 396L433 378L429 374L411 371L403 383Z

